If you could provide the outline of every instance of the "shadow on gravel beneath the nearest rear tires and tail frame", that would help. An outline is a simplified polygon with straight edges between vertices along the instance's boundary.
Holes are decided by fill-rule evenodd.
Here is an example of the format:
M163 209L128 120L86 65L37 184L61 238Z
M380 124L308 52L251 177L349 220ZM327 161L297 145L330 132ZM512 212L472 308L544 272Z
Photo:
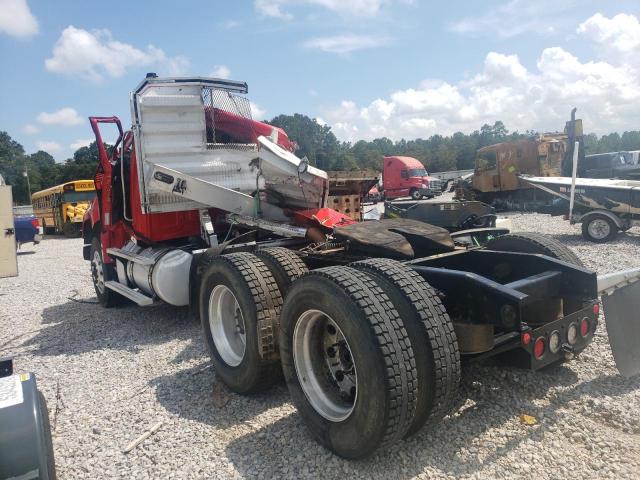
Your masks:
M625 380L619 376L577 383L575 373L563 366L541 372L469 366L461 385L468 400L457 412L371 458L347 461L331 454L311 438L297 413L234 440L227 447L227 455L245 477L411 478L423 472L472 475L499 463L522 442L540 442L566 415L559 409L567 407L568 402L585 393L595 397L622 395L638 386L640 378ZM538 405L552 387L560 388L551 395L551 403ZM244 410L248 408L243 406ZM523 413L535 417L538 425L520 423L518 418Z

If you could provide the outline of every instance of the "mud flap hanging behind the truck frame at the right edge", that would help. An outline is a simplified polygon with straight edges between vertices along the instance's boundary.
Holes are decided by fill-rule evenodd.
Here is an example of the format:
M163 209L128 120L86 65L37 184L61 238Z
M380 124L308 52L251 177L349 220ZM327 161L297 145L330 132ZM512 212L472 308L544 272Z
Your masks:
M620 373L640 373L640 281L602 292L609 344Z

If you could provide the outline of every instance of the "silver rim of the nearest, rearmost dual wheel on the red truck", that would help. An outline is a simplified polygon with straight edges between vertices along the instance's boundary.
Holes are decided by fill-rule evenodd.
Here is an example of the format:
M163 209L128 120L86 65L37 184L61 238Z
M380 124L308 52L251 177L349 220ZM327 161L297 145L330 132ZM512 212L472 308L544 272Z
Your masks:
M320 310L298 317L293 361L313 409L332 422L347 419L358 400L358 375L351 347L331 317Z

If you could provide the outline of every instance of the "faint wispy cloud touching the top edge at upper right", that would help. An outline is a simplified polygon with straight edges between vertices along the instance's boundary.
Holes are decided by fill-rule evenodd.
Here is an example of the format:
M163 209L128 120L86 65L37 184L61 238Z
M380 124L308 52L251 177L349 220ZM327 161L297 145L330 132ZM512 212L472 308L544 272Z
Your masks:
M453 22L449 30L471 36L511 38L523 33L549 35L574 21L581 4L577 0L510 0L483 15ZM573 12L572 12L573 11Z

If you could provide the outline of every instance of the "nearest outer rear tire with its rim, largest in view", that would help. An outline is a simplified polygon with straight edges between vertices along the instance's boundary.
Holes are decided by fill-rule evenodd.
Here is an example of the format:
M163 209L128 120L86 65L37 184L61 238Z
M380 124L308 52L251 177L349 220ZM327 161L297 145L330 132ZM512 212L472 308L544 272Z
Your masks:
M387 295L365 272L314 270L282 311L282 367L312 435L345 458L401 439L417 399L413 349Z

